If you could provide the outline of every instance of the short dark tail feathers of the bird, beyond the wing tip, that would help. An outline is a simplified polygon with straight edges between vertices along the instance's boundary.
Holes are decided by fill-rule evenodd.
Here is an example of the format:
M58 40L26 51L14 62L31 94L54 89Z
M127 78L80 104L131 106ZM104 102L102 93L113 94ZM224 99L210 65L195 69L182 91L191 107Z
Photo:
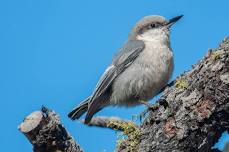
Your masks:
M85 99L77 107L75 107L71 112L68 113L68 117L72 120L79 119L88 110L90 97Z

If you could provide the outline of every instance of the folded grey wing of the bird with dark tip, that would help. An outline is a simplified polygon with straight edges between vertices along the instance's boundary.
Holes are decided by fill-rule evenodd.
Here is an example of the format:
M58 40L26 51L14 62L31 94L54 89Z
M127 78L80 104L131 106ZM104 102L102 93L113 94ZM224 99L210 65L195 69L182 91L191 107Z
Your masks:
M114 80L129 67L138 55L144 49L144 43L138 40L128 41L123 48L120 49L118 54L113 58L112 64L107 68L102 77L100 78L89 102L88 112L85 118L85 123L89 123L93 114L101 108L106 101L105 94L108 93L111 84Z

